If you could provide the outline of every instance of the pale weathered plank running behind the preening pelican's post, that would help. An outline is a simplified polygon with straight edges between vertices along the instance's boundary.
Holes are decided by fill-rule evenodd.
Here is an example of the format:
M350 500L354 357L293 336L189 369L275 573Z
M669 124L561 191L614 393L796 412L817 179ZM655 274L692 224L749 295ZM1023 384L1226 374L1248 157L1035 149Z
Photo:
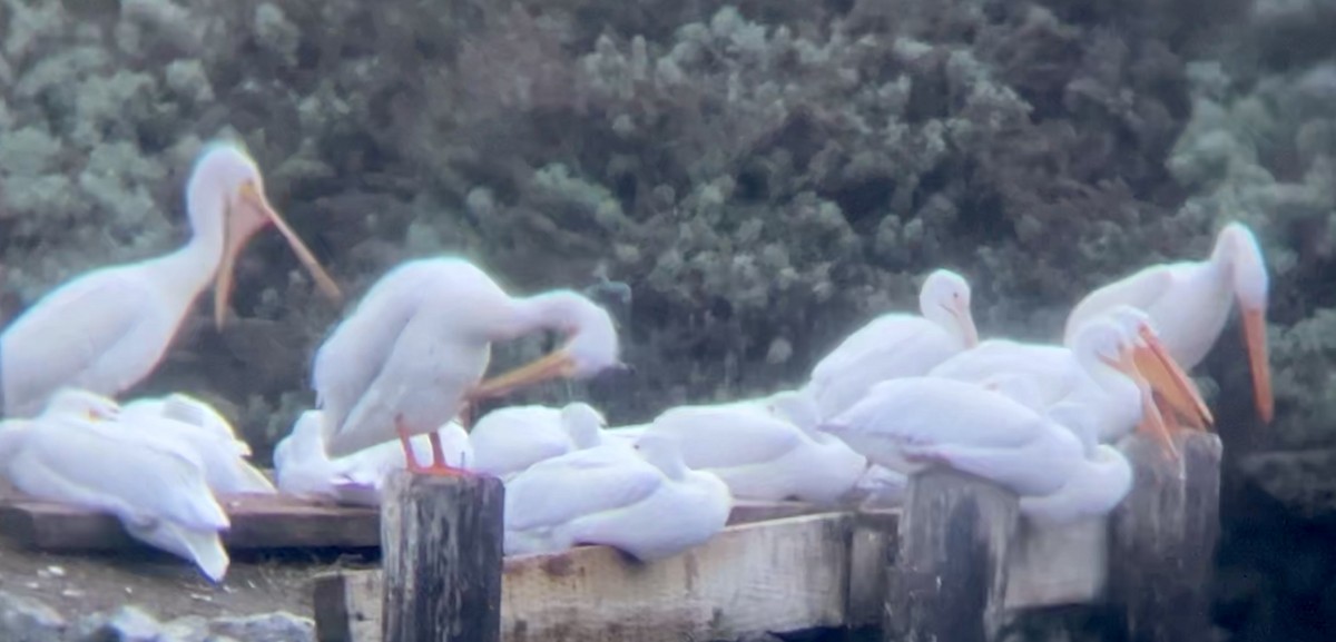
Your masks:
M894 517L883 519L894 521ZM855 518L827 513L729 526L671 559L604 546L508 558L505 642L677 642L844 625ZM315 581L321 639L381 642L381 571Z

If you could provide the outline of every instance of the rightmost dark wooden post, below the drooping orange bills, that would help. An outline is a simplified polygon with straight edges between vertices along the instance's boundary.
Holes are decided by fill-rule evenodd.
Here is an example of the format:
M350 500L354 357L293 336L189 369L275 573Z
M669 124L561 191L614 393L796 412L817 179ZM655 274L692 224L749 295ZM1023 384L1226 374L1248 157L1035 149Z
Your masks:
M1125 448L1136 480L1112 515L1109 599L1121 626L1106 639L1212 638L1208 586L1220 534L1220 438L1181 432L1178 451L1181 468L1140 436Z

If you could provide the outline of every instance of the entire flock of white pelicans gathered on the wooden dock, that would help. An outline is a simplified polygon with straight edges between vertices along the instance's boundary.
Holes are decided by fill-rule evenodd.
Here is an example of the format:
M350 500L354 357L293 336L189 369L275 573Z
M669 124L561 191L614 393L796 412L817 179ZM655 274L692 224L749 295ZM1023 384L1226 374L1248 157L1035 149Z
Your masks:
M135 538L228 566L223 506L238 495L374 506L386 475L492 475L506 486L505 551L605 545L647 562L724 529L739 501L822 505L880 495L946 466L1017 494L1030 519L1116 507L1137 434L1176 460L1174 432L1214 418L1188 375L1242 316L1263 420L1273 402L1268 276L1252 232L1224 226L1210 256L1145 267L1077 303L1054 343L979 339L966 278L935 270L916 314L888 311L819 359L806 380L754 399L667 408L609 427L588 402L477 406L553 379L620 368L612 316L574 290L513 294L462 256L391 267L311 359L314 407L274 450L273 475L228 420L188 392L120 399L146 379L212 282L226 331L232 266L273 226L314 284L342 292L265 195L243 147L218 141L186 184L190 240L92 270L0 332L0 472L21 493L115 515ZM534 332L564 343L488 376L492 347Z

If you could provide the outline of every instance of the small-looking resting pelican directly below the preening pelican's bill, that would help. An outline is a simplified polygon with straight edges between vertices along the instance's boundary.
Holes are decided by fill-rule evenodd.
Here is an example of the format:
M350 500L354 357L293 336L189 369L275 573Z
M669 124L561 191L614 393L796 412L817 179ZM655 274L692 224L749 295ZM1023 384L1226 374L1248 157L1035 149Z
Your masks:
M603 414L584 402L497 408L469 431L470 470L508 479L544 459L599 446L605 426Z

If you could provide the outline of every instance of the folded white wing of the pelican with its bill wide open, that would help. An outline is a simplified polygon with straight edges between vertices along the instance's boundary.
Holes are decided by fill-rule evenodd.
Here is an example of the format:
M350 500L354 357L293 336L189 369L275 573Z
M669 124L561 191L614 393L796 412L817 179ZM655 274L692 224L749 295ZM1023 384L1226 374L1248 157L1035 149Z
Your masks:
M40 411L63 386L106 395L128 388L162 358L178 322L132 272L94 274L52 291L0 335L11 414Z

